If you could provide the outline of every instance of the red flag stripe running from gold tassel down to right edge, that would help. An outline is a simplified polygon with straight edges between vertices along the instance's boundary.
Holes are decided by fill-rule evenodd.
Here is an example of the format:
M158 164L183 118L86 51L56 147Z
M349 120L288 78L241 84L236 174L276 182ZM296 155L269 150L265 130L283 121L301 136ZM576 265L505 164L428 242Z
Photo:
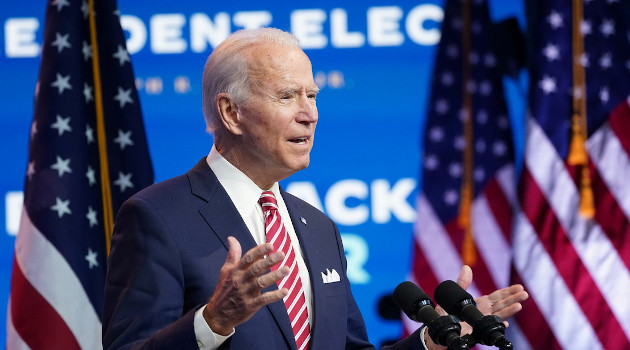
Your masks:
M630 269L630 223L597 168L592 162L589 164L596 206L595 220L617 250L621 260Z

